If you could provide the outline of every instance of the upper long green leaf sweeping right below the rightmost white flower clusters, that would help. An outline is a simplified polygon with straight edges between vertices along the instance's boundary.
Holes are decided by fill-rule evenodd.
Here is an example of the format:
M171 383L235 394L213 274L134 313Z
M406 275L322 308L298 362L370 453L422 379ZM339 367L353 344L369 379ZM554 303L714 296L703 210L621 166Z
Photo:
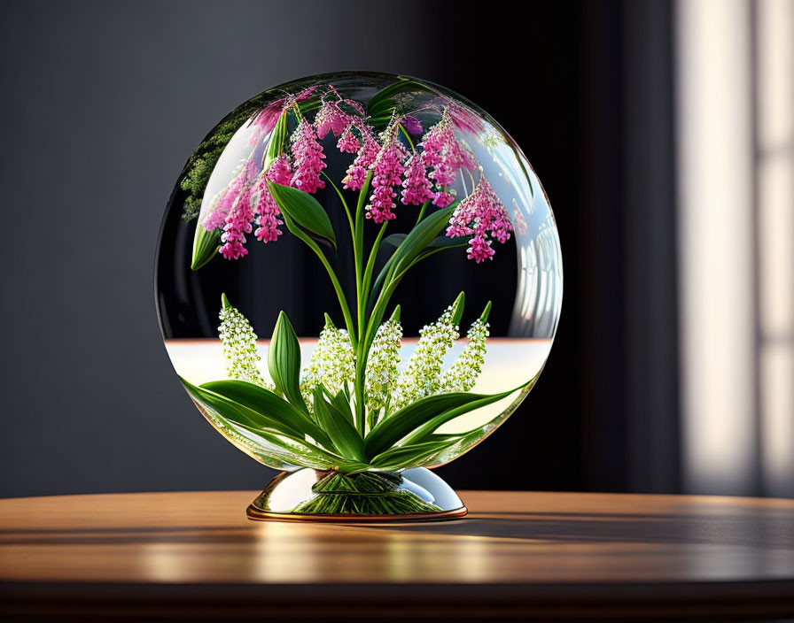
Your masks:
M449 419L502 400L514 391L516 390L510 389L510 391L501 394L491 395L450 392L426 396L378 422L364 442L367 456L376 457L420 428L424 435L425 428L431 423L433 424L432 430L435 430Z

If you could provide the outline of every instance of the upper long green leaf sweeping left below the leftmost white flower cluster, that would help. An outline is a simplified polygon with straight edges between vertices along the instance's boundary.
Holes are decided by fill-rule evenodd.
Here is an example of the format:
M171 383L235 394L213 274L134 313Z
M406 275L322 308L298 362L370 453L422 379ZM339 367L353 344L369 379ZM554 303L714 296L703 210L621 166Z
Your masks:
M276 420L281 429L292 432L292 435L308 435L321 443L324 441L323 430L309 419L305 411L288 403L281 396L276 396L269 389L246 381L210 381L203 383L201 388L232 400L262 417Z

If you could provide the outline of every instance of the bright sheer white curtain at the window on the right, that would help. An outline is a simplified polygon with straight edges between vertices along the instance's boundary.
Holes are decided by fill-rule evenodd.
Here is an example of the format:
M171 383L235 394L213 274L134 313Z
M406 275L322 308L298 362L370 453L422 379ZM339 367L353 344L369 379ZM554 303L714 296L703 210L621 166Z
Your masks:
M794 2L674 23L683 487L794 496Z

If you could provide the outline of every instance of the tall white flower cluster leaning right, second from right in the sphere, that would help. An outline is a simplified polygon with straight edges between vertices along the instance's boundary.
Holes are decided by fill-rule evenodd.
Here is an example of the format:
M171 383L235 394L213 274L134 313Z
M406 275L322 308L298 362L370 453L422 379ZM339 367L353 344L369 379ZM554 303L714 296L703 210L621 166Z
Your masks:
M425 325L419 331L419 342L408 361L408 367L397 379L394 390L393 409L411 404L424 396L440 391L441 366L444 356L460 336L458 327L452 323L453 309L450 305L440 319Z

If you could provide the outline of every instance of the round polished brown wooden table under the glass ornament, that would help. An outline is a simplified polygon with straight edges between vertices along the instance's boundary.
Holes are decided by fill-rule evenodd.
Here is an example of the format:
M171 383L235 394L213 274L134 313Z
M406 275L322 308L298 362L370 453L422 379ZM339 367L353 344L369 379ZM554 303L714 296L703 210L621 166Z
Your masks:
M255 495L0 500L0 619L794 616L794 500L463 491L466 519L339 526Z

